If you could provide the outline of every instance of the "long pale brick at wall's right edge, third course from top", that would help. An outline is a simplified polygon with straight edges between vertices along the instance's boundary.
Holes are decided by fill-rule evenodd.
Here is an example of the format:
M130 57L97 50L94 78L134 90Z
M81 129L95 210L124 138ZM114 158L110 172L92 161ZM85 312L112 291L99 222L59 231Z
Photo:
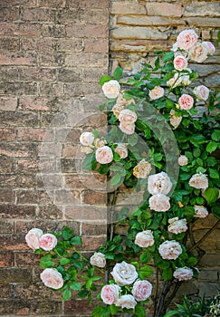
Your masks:
M107 25L96 24L67 24L66 34L69 37L104 37L108 36L109 30Z

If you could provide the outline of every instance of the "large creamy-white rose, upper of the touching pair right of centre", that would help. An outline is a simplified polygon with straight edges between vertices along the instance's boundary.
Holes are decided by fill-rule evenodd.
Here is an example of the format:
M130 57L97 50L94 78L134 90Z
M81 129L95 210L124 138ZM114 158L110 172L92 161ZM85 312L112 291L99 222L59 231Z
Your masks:
M148 192L151 195L167 195L171 188L172 183L165 172L160 172L148 177Z

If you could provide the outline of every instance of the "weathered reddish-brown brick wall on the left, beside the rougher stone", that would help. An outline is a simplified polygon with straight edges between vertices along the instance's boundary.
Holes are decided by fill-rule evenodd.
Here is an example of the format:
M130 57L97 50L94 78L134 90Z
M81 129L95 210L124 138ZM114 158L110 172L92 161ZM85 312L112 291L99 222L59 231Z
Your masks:
M96 111L108 5L0 1L0 315L90 315L87 302L64 304L43 286L24 235L72 226L85 252L105 240L105 179L82 172L78 144L82 130L106 124Z

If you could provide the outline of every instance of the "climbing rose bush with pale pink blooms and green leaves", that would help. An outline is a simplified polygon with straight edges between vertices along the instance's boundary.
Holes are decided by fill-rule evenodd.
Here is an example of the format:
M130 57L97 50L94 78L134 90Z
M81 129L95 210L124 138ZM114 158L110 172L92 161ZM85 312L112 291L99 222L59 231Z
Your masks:
M113 79L100 78L107 97L100 110L107 112L110 130L106 136L84 131L80 142L83 168L107 174L115 188L105 245L87 259L79 252L81 237L69 227L44 235L33 228L25 237L42 255L43 283L62 292L63 301L77 293L91 303L99 292L92 317L146 316L150 298L154 317L165 316L180 284L198 275L196 264L205 254L200 245L220 223L220 131L213 114L219 98L218 91L197 84L188 61L204 62L213 53L212 43L185 30L170 52L157 53L154 65L144 63L127 82L120 67ZM198 116L200 106L206 110ZM143 195L132 212L115 210L122 185ZM215 225L195 241L193 227L208 214ZM115 234L119 225L128 227L127 235Z

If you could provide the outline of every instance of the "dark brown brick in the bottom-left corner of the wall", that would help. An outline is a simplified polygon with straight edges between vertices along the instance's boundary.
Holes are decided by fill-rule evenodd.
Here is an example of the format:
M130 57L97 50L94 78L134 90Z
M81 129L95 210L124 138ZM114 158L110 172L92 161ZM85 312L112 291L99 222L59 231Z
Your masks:
M0 313L5 316L15 315L29 315L31 303L25 300L1 300L0 301ZM12 315L8 315L8 314Z

